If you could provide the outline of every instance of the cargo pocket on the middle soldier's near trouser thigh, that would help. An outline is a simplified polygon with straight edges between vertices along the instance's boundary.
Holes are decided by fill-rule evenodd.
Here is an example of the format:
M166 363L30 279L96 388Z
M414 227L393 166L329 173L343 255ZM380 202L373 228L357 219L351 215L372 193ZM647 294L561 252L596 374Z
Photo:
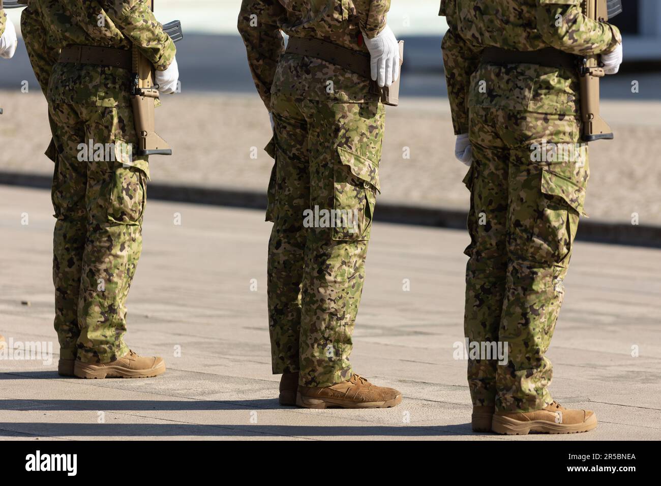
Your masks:
M379 186L377 163L338 147L333 167L332 239L369 240Z

